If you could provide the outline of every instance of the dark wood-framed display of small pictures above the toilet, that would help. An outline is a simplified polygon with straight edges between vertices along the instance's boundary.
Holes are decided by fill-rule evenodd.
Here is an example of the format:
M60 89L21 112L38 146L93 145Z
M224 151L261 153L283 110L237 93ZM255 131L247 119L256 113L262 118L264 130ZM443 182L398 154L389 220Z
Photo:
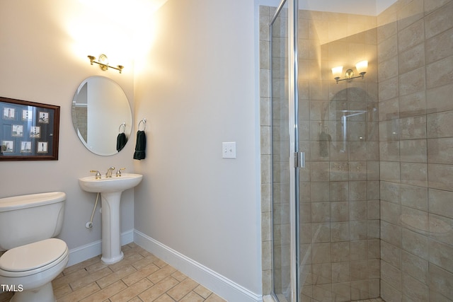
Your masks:
M0 97L0 161L58 160L59 106Z

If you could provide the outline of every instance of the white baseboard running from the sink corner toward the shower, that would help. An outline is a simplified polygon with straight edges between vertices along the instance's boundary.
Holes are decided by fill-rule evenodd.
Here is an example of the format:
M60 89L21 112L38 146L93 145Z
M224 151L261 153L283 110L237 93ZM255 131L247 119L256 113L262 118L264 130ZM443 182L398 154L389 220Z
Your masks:
M212 269L186 257L157 240L134 230L134 243L164 260L183 274L194 279L210 291L231 302L261 302L263 296L255 294Z

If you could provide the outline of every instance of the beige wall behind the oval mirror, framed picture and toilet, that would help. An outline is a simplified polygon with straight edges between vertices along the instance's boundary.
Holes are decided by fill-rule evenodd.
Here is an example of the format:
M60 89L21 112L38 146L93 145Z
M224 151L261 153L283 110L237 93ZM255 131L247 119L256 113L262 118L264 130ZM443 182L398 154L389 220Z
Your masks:
M36 192L67 193L63 230L60 237L70 249L101 240L101 214L96 211L93 229L85 228L90 220L96 194L81 190L78 178L90 170L105 173L110 165L132 171L134 139L115 156L97 156L79 141L71 119L71 102L81 81L88 76L108 76L122 86L134 105L133 65L124 58L125 71L101 71L89 64L88 54L98 55L86 39L98 33L71 35L69 23L81 28L98 20L86 16L80 1L0 1L0 95L6 98L59 105L58 161L2 161L0 197ZM105 21L109 23L109 21ZM115 27L115 23L110 23ZM118 38L124 36L118 33ZM108 54L109 50L105 52ZM110 57L115 61L115 57ZM130 58L132 62L132 58ZM121 231L134 228L134 194L125 192L121 204ZM70 257L71 258L71 257ZM72 257L69 261L74 260Z

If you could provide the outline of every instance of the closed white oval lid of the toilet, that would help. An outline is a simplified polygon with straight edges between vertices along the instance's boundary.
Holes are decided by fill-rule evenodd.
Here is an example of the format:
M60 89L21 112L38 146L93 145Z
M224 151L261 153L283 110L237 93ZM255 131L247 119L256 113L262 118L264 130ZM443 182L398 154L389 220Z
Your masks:
M24 272L54 262L67 250L66 243L57 238L41 240L8 250L0 257L0 269Z

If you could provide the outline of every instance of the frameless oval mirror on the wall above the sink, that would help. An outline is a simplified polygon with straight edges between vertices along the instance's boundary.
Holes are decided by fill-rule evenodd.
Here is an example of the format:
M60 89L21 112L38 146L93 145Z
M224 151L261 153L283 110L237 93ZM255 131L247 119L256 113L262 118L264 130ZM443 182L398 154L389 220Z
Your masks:
M102 156L118 153L132 131L132 111L125 92L103 76L85 79L72 100L72 124L89 151Z

